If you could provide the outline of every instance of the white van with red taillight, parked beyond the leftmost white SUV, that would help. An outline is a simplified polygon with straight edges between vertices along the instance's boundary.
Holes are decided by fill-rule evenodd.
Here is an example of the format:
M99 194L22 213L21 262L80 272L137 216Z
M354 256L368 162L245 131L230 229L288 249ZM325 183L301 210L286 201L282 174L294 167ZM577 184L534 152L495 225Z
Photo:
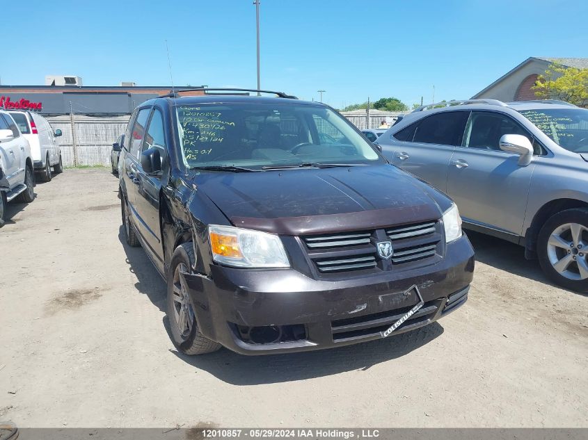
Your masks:
M33 154L33 165L36 172L39 172L41 181L51 180L51 167L54 173L63 172L61 161L61 149L55 138L61 136L61 130L53 131L49 121L30 111L9 111L18 125L23 136L31 145Z

